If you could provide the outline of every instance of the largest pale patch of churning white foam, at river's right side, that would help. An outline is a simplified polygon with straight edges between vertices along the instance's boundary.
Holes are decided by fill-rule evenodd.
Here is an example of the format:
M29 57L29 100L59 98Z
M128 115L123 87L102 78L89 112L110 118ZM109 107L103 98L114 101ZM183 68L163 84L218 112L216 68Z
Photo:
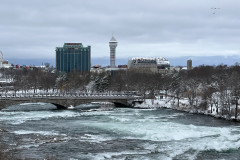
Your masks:
M178 113L171 116L148 115L136 118L134 113L110 115L109 121L84 124L101 130L110 130L122 136L122 139L139 139L164 143L164 146L146 147L147 150L165 153L168 158L185 154L195 157L201 151L227 151L240 148L239 128L186 125L167 119L183 116ZM163 119L165 117L166 119ZM190 152L190 153L188 153Z

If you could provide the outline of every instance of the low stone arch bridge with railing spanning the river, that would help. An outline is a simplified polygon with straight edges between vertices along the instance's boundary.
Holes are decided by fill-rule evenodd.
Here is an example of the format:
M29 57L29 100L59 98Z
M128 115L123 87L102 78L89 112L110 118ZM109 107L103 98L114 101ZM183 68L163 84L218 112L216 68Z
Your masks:
M1 94L0 109L22 103L50 103L58 109L91 102L112 102L116 107L133 107L142 103L141 97L127 94Z

